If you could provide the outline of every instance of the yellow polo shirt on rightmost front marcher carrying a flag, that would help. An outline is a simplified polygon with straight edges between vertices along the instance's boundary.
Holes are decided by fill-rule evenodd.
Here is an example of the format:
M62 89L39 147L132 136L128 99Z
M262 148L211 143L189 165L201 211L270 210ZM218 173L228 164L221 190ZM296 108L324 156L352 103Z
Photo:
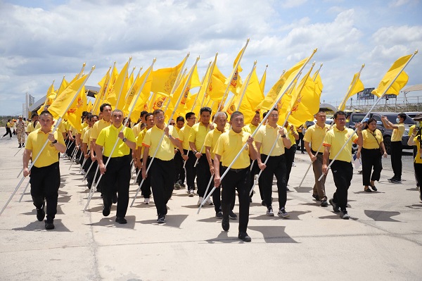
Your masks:
M324 138L324 146L330 146L330 159L333 160L334 156L338 154L338 151L342 146L347 142L347 139L352 135L352 142L357 141L357 134L354 133L354 130L347 129L340 131L336 126L333 127L333 130L329 130L326 133ZM347 142L345 148L337 156L336 160L351 162L352 161L352 142Z

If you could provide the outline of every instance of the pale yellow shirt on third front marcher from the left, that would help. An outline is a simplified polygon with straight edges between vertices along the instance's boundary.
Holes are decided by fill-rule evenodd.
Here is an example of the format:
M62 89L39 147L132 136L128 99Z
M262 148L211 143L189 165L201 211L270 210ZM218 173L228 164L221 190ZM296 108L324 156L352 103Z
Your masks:
M154 126L150 130L146 131L145 137L143 137L142 145L149 147L149 156L154 156L162 134L164 134L164 130L161 130L157 126ZM174 130L174 126L169 126L169 134L172 135L172 137L175 139L179 139L179 135L177 135L177 130ZM174 145L172 144L172 141L170 141L170 138L167 136L164 136L162 139L157 154L155 154L155 158L158 158L162 161L169 161L174 158Z

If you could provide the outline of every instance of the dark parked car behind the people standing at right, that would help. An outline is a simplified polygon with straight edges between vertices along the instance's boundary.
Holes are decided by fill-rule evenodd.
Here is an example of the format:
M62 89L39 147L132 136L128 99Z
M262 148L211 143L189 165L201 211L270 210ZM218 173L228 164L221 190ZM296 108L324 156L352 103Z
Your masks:
M362 122L365 115L366 113L352 113L352 115L350 115L349 127L354 130L355 128L354 124ZM383 122L381 121L381 117L387 116L388 120L390 120L391 123L396 124L397 115L399 115L399 113L394 113L394 112L371 112L369 114L369 118L374 118L376 120L377 129L381 130L381 132L383 133L384 146L388 154L390 154L391 152L392 130L386 129L384 127ZM404 149L411 149L411 146L407 145L407 140L409 139L409 127L411 125L414 125L414 123L415 123L414 120L409 115L407 115L406 120L404 120L404 134L402 137L402 145ZM354 144L353 149L354 150L357 149L356 144Z

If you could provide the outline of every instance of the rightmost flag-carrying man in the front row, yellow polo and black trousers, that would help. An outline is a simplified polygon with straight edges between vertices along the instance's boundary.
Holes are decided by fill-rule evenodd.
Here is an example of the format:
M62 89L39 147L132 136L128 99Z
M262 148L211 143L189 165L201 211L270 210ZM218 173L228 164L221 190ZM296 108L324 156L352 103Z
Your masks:
M362 138L362 123L356 124L357 135L354 134L354 130L345 127L346 113L344 111L334 113L334 123L333 130L329 130L324 138L322 170L324 174L328 173L328 159L331 162L338 154L331 165L336 189L333 199L330 199L329 202L333 206L333 211L336 213L340 212L340 218L348 220L350 216L346 210L347 190L350 187L353 177L352 142L357 143L359 146L362 146L364 143ZM350 136L352 136L352 142L347 142ZM345 145L344 148L343 145Z

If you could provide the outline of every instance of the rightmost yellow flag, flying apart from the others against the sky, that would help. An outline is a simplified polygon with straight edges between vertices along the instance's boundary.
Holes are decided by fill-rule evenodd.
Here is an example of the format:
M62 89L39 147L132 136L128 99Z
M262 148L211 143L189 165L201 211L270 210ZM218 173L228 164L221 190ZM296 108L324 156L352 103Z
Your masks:
M372 94L381 97L385 92L385 94L395 94L397 96L400 90L404 86L406 86L407 81L409 80L409 76L404 71L402 71L402 73L400 73L398 77L397 75L399 74L400 70L404 68L411 56L412 55L408 55L398 58L397 61L395 61L391 65L387 73L385 73L383 80L381 80L380 84L378 85L378 88L372 91ZM392 83L390 87L388 87L396 77L397 79Z

